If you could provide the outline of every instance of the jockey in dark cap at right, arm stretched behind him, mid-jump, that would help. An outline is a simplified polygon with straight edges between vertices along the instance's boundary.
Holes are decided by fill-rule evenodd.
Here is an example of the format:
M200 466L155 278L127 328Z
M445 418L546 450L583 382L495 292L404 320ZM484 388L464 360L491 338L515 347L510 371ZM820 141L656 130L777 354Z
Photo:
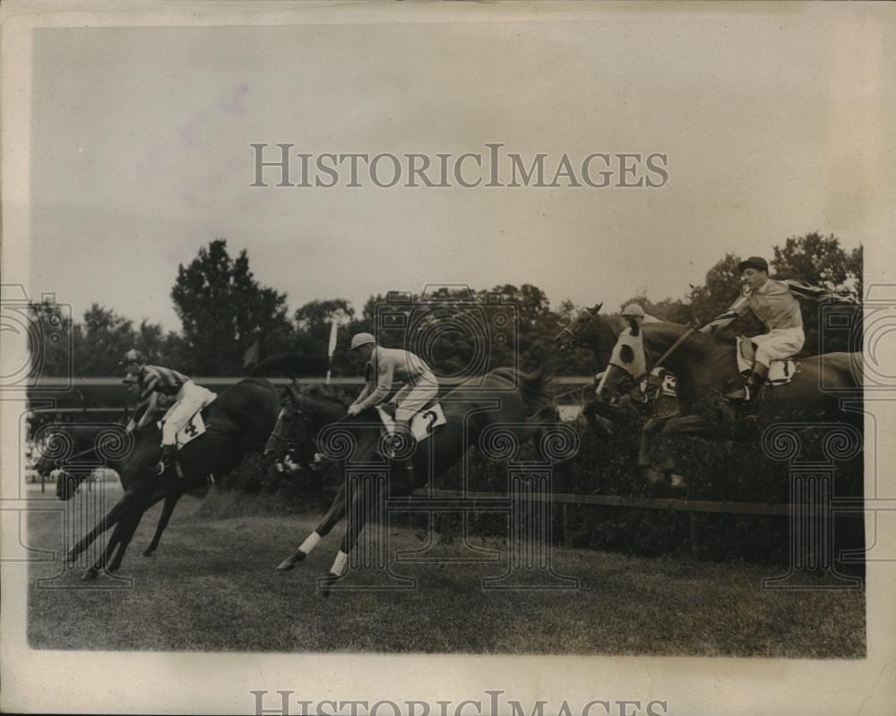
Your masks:
M854 296L809 286L802 281L770 279L769 264L759 256L751 256L746 261L738 263L737 270L741 272L741 279L745 283L744 294L737 298L726 313L707 323L701 331L715 332L747 311L752 311L762 321L768 332L750 339L756 346L756 357L748 378L749 390L742 388L727 396L754 400L769 374L771 361L795 356L806 342L806 335L803 333L803 314L797 299L849 304L856 304L857 299Z

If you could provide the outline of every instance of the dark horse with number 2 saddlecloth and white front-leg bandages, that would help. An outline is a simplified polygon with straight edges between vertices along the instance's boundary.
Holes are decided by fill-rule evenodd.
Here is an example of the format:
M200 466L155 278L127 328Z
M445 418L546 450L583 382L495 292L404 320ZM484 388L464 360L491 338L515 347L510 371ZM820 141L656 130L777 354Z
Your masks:
M345 466L383 466L390 473L390 495L405 496L452 467L490 426L506 427L520 443L524 443L536 438L543 428L556 424L556 408L544 395L545 384L545 376L541 373L528 375L511 368L498 368L445 393L441 403L447 423L436 427L432 436L418 444L413 452L402 453L413 462L413 470L406 470L400 460L389 460L384 456L388 450L383 446L382 421L375 409L366 410L356 418L341 418L324 427L317 411L319 401L300 401L297 395L290 393L288 405L271 434L265 454L280 458L289 443L297 442L299 431L304 431L306 437L320 432L320 449L325 455ZM349 494L349 487L344 483L320 524L295 553L280 563L278 569L291 569L305 559L348 510L340 552L323 581L323 593L326 593L345 572L348 555L364 527L369 498L364 489Z

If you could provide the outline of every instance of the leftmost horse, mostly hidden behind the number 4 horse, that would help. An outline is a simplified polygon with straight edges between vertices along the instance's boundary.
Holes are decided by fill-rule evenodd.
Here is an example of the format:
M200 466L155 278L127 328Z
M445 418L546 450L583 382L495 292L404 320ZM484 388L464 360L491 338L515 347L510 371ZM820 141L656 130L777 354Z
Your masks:
M48 426L50 432L46 436L47 443L39 448L39 458L34 463L34 470L39 475L48 476L56 469L56 496L64 502L70 500L81 489L82 482L93 474L94 470L111 467L117 463L116 451L129 442L123 423L108 425L68 425ZM47 428L42 428L46 430ZM61 451L65 451L64 453ZM73 461L76 462L73 463ZM66 470L71 466L72 470ZM121 486L127 491L129 480L122 479ZM172 493L165 496L159 523L156 525L150 544L143 550L143 556L152 556L159 548L162 532L168 527L168 521L183 493Z

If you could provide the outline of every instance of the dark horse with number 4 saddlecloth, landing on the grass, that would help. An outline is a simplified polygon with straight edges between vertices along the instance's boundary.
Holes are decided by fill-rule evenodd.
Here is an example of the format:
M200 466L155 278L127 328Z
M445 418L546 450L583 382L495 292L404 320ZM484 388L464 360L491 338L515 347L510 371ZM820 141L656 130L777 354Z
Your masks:
M155 471L161 442L159 427L153 422L134 430L126 437L124 449L117 450L121 454L111 455L107 461L108 466L118 472L125 495L71 549L69 562L73 564L99 535L114 526L105 551L84 576L96 577L104 568L115 572L143 513L161 499L166 503L173 501L173 510L173 505L185 492L205 487L215 476L223 477L247 453L261 452L277 422L279 410L280 396L267 380L251 377L231 385L202 410L205 433L185 444L177 453L178 467L169 468L162 475ZM161 524L160 527L164 529ZM110 562L116 548L115 557Z

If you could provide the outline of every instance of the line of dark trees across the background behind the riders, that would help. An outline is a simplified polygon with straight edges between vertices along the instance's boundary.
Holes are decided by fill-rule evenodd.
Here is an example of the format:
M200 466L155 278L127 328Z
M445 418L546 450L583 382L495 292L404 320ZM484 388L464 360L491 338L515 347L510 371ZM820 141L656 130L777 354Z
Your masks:
M740 256L725 254L706 273L702 285L692 286L683 296L655 299L646 293L632 296L619 306L604 306L615 313L628 303L637 303L650 315L675 323L702 325L725 309L740 292L737 263ZM774 247L771 257L772 278L806 281L828 289L854 289L862 296L862 247L850 251L834 236L817 232L789 237ZM203 246L191 263L179 265L171 299L181 322L180 331L164 331L159 323L134 320L113 308L93 304L81 320L65 316L59 306L43 303L31 306L44 325L54 324L62 341L49 341L48 332L37 332L32 357L40 360L41 375L64 375L71 365L74 375L119 375L118 361L127 349L137 348L150 362L174 367L188 375L244 375L259 359L280 353L298 353L309 358L309 368L323 375L333 321L340 324L339 342L333 359L333 375L354 375L346 356L350 336L359 331L376 331L383 345L401 346L408 340L407 325L391 329L383 325L382 308L387 295L368 298L356 308L345 298L315 299L297 308L291 315L287 295L262 286L254 278L245 250L232 256L227 240L218 238ZM594 303L601 297L595 295ZM513 340L496 342L495 336L477 338L470 329L470 316L477 318L475 306L513 306L513 326L504 326L504 334ZM428 331L427 358L442 373L452 374L469 367L478 353L485 351L484 368L544 365L554 375L590 375L593 358L586 350L560 355L554 337L570 323L582 306L568 300L553 307L543 290L531 284L504 284L492 289L438 289L422 296L409 296L394 306L390 315L404 314L418 330ZM843 310L855 310L845 308ZM426 314L434 316L426 322ZM466 314L466 315L464 315ZM421 322L418 318L423 315ZM444 317L451 330L433 329L432 323ZM818 307L804 306L806 324L805 355L839 349L860 349L860 335L844 330L825 332L820 345ZM489 315L478 321L490 323ZM759 332L761 326L748 316L739 319L737 330ZM399 322L401 323L401 322ZM855 322L852 322L855 323ZM861 323L858 320L857 323ZM464 328L466 326L466 329ZM510 332L508 332L508 330ZM501 331L497 331L500 333ZM500 341L501 339L496 339ZM413 342L413 341L411 341ZM515 363L514 363L515 361Z

